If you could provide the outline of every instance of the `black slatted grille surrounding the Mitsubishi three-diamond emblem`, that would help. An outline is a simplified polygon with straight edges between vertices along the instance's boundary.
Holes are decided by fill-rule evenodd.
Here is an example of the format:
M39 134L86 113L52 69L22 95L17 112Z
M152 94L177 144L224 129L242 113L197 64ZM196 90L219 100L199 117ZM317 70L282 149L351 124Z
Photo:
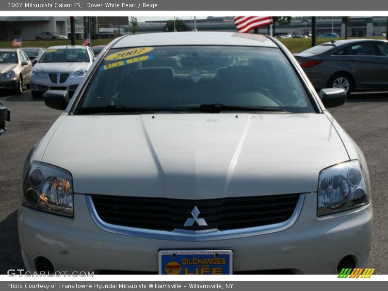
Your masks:
M287 221L299 194L183 200L150 197L91 195L99 218L109 224L154 230L230 230ZM194 207L207 226L183 226Z

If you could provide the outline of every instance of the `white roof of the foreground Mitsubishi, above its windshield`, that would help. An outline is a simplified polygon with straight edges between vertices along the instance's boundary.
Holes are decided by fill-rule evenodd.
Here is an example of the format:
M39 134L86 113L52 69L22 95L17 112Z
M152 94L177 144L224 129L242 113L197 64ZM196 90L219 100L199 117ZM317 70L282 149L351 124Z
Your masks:
M265 35L238 32L159 32L128 35L114 43L113 48L182 45L277 48L276 43Z

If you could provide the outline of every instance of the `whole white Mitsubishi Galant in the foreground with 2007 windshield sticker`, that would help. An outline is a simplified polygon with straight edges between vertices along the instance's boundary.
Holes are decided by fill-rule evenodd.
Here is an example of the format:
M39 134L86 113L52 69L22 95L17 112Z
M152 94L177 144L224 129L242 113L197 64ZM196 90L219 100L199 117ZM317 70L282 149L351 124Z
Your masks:
M275 38L113 40L33 147L18 212L27 270L336 274L366 266L368 168Z

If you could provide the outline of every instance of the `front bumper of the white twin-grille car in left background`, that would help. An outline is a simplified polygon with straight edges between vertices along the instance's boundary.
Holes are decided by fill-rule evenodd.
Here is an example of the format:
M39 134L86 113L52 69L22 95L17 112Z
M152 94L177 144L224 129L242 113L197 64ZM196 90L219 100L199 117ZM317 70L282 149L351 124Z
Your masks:
M47 73L45 73L45 77L31 76L31 90L39 91L42 93L49 90L66 90L69 92L75 92L77 90L78 85L81 83L82 78L83 77L71 78L69 76L67 80L63 83L53 83L50 81Z

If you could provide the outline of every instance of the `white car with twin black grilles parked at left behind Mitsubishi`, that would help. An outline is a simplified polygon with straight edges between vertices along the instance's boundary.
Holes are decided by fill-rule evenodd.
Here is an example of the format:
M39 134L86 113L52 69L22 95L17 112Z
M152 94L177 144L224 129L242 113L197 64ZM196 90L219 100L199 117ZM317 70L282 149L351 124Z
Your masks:
M55 46L46 49L32 70L32 97L41 97L49 90L66 90L71 97L94 58L89 47Z

